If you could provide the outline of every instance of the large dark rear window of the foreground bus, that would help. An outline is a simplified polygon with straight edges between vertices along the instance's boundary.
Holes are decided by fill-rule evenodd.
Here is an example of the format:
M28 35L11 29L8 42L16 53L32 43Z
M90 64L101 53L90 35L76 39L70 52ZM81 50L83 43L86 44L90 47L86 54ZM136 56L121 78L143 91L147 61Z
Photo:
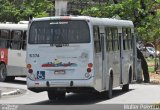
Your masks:
M29 44L89 43L89 26L84 20L48 20L31 24Z

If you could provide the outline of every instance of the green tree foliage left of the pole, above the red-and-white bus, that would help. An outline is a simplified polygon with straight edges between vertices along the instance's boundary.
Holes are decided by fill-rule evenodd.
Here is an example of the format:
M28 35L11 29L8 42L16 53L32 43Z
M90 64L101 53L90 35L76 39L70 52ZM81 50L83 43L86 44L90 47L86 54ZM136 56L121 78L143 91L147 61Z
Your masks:
M34 17L48 16L53 8L49 0L0 0L0 22L18 22Z

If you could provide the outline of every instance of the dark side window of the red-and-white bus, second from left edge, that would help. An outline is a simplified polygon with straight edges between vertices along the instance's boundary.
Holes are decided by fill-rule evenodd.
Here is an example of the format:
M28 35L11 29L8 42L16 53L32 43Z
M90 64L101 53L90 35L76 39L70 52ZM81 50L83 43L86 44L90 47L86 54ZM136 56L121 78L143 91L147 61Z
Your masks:
M11 49L20 50L22 44L22 31L12 31L11 33Z

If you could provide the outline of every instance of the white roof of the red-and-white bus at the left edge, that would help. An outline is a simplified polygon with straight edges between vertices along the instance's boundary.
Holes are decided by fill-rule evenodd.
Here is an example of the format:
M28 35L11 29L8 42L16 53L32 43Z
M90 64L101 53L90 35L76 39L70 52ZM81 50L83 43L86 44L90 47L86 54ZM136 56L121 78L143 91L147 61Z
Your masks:
M0 24L0 29L27 30L28 24Z

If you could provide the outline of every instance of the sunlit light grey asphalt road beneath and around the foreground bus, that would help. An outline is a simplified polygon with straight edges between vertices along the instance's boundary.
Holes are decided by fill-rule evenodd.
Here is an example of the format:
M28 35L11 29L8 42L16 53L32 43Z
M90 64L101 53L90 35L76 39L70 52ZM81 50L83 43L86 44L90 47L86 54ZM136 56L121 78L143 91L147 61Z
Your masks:
M17 78L12 83L2 83L0 82L1 87L14 87L14 88L20 88L27 90L26 87L26 81L25 78ZM160 104L160 85L153 85L153 84L131 84L130 85L130 91L128 92L122 92L121 88L115 88L113 91L113 98L112 99L102 99L97 97L97 95L94 94L67 94L66 99L64 100L58 100L58 101L49 101L47 97L47 92L41 92L41 93L34 93L29 90L27 90L24 94L18 95L18 96L7 96L2 97L0 99L0 104L4 106L4 104L25 104L31 107L38 107L43 108L38 105L50 105L47 107L53 107L52 105L60 105L61 109L65 109L65 105L72 105L67 106L71 107L70 110L74 110L77 108L75 105L83 105L84 106L90 106L87 107L88 109L95 109L96 107L101 107L106 109L105 105L107 107L112 106L113 104L116 104L114 107L122 106L124 107L124 104ZM103 106L102 106L103 104ZM109 104L109 105L108 105ZM122 104L122 105L119 105ZM21 106L25 106L21 105ZM94 107L95 106L95 107ZM58 107L58 106L54 106ZM81 107L81 108L83 108ZM25 109L25 107L22 107ZM78 107L79 108L79 107ZM97 108L97 110L98 110ZM28 107L26 110L29 109ZM32 108L33 109L33 108ZM56 110L58 108L55 108ZM99 108L100 109L100 108ZM1 110L1 107L0 107ZM78 109L80 110L80 108Z

